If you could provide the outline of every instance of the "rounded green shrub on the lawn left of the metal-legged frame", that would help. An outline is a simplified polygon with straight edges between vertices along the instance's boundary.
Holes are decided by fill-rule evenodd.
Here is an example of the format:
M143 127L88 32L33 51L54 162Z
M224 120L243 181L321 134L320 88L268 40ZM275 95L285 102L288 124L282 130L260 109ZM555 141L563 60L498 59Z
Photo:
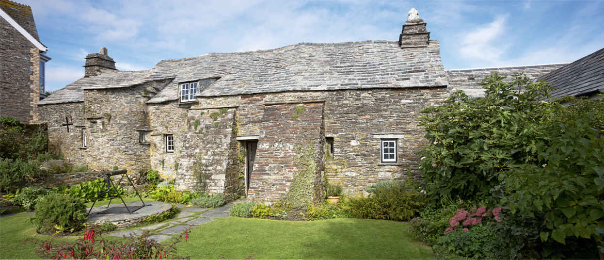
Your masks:
M39 233L73 232L84 227L87 218L82 199L51 192L36 203L36 214L32 222Z

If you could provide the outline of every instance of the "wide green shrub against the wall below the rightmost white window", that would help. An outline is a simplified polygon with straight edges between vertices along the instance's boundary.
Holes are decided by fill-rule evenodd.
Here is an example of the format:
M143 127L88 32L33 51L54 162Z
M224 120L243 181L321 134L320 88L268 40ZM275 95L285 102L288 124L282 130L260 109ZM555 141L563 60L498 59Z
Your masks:
M351 202L355 218L391 219L408 221L417 215L428 202L413 183L379 187L370 198L357 198Z

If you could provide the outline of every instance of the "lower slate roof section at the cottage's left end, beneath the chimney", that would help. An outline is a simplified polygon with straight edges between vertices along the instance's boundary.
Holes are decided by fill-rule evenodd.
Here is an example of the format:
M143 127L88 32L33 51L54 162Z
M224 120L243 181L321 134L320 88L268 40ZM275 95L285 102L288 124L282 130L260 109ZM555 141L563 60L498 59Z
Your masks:
M97 76L83 77L76 80L65 88L59 89L45 99L40 100L38 105L83 102L83 89L99 88L123 88L149 81L149 71L106 71Z

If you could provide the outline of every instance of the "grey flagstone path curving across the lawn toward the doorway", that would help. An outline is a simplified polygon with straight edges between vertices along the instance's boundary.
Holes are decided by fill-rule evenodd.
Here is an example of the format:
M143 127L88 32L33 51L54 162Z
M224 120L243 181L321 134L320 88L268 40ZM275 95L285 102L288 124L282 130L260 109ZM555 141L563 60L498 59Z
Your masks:
M109 233L107 235L129 236L130 233L132 233L133 236L140 236L143 234L143 231L147 231L153 234L149 236L149 239L161 242L166 239L172 238L173 235L182 233L188 228L214 221L216 218L225 218L229 216L228 210L231 209L234 204L235 202L231 202L214 209L187 207L185 205L180 205L179 209L181 209L181 212L174 219L170 219L168 221L164 221L158 224L153 224L151 226L138 227L134 230L125 230Z

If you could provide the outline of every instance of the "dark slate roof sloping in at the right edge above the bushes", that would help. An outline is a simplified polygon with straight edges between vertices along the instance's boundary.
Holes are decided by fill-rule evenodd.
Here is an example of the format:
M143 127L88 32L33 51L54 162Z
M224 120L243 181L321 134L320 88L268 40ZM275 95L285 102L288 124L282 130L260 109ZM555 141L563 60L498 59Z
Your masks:
M556 87L551 97L604 93L604 48L540 78Z

